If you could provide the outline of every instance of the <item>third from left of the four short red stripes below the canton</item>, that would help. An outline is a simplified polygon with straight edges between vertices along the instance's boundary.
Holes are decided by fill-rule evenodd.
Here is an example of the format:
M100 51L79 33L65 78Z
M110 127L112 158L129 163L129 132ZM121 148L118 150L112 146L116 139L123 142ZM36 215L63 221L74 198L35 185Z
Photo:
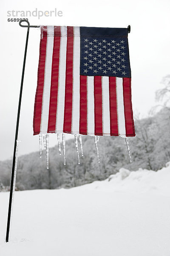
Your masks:
M117 123L116 77L109 77L111 136L119 136Z

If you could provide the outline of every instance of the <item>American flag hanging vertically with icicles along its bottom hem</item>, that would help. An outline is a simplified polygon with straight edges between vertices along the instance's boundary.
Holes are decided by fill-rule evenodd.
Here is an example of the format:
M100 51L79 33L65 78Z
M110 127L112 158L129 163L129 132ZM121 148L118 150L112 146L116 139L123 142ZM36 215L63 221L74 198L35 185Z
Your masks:
M127 29L41 26L33 127L135 136Z

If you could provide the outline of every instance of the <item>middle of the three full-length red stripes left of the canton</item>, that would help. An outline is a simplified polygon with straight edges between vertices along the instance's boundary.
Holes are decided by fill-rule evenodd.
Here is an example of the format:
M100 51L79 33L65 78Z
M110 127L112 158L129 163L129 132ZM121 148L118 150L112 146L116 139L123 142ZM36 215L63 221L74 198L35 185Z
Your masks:
M61 38L60 26L54 26L54 46L53 46L53 60L52 60L52 67L51 67L51 90L50 90L50 104L49 104L49 116L48 116L48 132L50 133L54 133L56 130L60 38Z

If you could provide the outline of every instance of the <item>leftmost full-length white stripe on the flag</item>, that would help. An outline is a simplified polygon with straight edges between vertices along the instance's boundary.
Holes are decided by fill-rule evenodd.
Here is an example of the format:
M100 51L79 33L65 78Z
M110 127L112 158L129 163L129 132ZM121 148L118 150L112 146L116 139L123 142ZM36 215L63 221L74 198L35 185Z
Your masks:
M47 133L47 129L48 129L48 113L49 113L49 102L50 102L53 44L54 44L54 26L47 26L47 46L46 46L46 57L45 57L44 88L43 88L43 96L42 96L42 114L41 114L41 125L40 125L41 133Z

